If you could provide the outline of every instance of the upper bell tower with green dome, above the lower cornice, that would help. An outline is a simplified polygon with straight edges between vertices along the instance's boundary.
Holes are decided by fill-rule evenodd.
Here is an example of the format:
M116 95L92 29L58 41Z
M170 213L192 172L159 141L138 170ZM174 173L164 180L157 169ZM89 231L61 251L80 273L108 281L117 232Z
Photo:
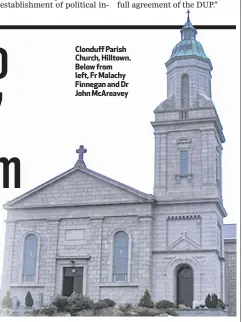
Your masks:
M189 13L167 68L167 99L154 111L154 195L158 200L222 202L225 142L211 95L210 59L196 40Z

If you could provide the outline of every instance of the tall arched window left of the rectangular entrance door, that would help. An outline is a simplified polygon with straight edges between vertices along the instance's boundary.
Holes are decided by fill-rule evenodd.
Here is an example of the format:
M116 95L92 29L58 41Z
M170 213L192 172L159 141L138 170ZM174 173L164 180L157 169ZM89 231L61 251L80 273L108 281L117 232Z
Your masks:
M38 238L35 234L29 234L24 240L23 254L23 282L34 282L36 280L36 265L38 252Z

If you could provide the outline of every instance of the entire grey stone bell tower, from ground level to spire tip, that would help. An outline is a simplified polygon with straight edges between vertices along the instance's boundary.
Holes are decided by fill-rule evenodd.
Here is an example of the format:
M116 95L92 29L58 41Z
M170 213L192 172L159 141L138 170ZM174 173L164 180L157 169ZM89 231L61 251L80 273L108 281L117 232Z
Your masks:
M180 304L190 295L186 300L193 306L203 304L208 293L224 299L222 227L227 215L221 175L225 138L212 101L213 67L196 35L188 14L181 40L165 64L167 98L155 109L152 122L154 256L165 272L163 296ZM193 282L187 291L179 286L180 272L190 272ZM158 280L153 287L160 298L165 284L158 285Z

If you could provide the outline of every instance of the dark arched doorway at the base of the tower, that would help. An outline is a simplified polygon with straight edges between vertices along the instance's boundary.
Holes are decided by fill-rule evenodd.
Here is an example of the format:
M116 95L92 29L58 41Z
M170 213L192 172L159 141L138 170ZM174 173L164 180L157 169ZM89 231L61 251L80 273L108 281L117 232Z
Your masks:
M193 304L193 270L187 264L180 265L177 270L177 305Z

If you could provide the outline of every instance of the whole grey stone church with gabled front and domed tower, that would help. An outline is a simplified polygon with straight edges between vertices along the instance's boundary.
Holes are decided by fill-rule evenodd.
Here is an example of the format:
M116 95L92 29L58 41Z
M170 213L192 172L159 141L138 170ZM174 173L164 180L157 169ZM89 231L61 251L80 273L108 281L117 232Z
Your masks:
M88 169L81 146L73 168L4 205L2 293L10 289L21 303L28 290L44 304L73 291L136 303L148 289L154 301L195 307L213 292L235 314L225 138L211 100L212 64L196 33L188 17L166 63L167 99L152 122L153 195Z

